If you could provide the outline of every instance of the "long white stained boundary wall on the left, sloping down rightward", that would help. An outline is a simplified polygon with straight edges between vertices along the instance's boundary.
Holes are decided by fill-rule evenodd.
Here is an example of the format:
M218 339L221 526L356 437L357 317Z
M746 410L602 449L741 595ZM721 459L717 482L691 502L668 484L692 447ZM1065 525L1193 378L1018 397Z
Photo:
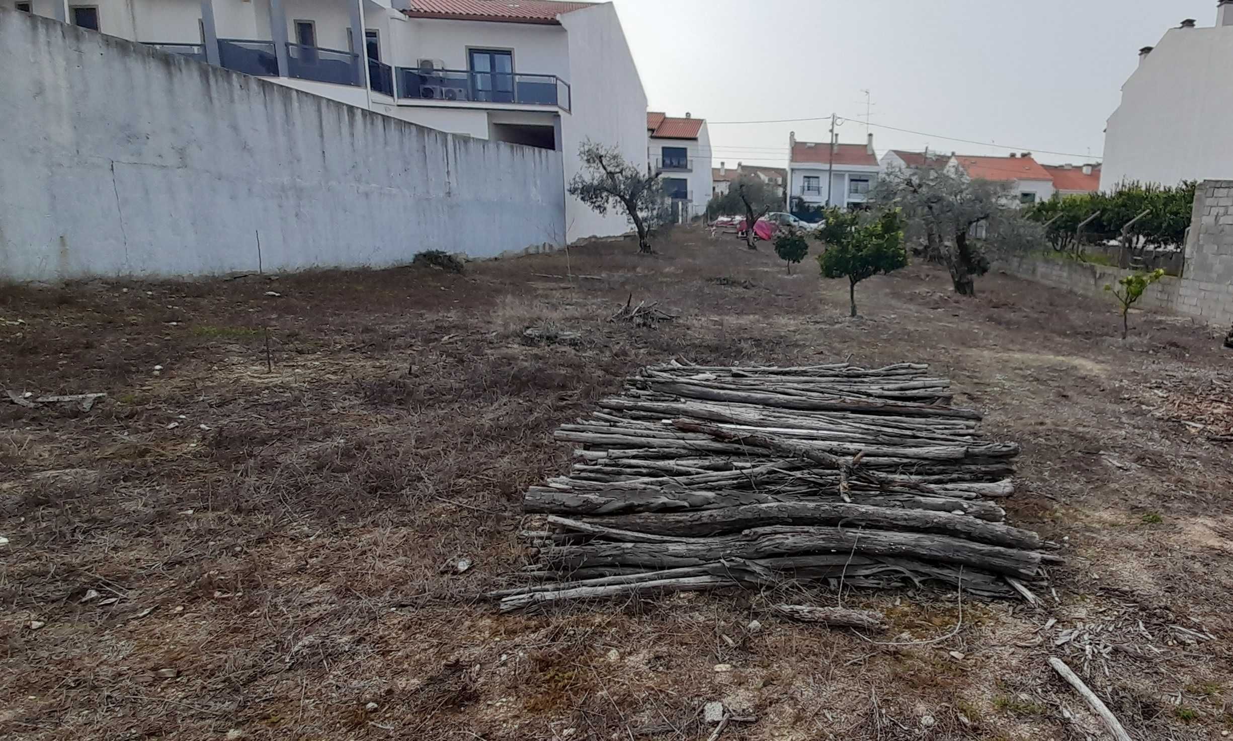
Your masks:
M565 244L560 152L446 134L0 6L0 280Z

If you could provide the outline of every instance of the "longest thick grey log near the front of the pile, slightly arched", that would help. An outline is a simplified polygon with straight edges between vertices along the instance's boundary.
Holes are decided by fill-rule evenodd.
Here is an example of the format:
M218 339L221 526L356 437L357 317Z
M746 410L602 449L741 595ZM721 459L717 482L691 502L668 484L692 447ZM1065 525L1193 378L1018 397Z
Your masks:
M552 547L541 551L554 570L597 563L682 568L700 566L723 557L768 559L809 554L858 554L956 563L994 573L1032 578L1044 560L1037 551L1015 550L973 542L947 535L840 528L772 526L720 535L688 542L607 542Z

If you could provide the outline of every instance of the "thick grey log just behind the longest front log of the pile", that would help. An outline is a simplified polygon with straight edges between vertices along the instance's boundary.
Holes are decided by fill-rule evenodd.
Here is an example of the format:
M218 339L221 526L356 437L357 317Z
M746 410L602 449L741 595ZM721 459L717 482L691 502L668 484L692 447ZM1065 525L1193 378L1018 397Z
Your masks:
M697 538L771 525L852 525L910 533L936 533L1012 549L1044 546L1041 536L964 514L843 502L777 502L697 512L656 512L589 518L587 523L661 536Z

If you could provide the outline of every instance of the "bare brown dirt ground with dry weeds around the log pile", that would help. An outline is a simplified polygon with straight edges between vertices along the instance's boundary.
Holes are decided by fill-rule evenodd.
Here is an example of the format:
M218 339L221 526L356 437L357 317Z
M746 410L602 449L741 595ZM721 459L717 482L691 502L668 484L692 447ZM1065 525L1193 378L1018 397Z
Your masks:
M1137 314L1123 343L1111 303L1001 275L964 300L928 266L861 284L848 319L811 260L788 276L689 231L657 248L5 289L0 386L109 396L0 397L0 737L692 740L708 700L757 716L729 741L1106 737L1051 655L1137 739L1233 732L1233 445L1208 438L1233 354L1213 330ZM607 323L631 293L681 318ZM529 325L583 340L526 344ZM953 637L895 646L730 593L477 600L525 562L520 492L570 455L554 427L676 355L933 364L1023 445L1009 509L1067 544L1055 594L965 599ZM883 642L961 620L954 594L806 597L885 610Z

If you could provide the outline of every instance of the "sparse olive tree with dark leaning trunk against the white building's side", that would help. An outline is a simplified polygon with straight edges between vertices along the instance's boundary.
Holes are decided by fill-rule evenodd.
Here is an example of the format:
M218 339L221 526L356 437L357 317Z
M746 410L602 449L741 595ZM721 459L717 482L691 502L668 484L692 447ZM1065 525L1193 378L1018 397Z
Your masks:
M615 147L586 141L578 147L582 169L570 181L570 195L600 216L620 208L637 232L637 250L651 252L651 229L667 213L658 173L625 162Z

